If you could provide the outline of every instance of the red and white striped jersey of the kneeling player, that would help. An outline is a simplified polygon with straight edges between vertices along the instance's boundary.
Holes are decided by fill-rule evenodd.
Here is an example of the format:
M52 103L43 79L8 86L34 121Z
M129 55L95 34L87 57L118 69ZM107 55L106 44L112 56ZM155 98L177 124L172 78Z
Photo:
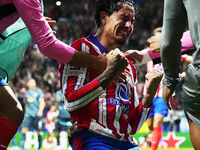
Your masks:
M96 56L108 53L91 34L78 39L71 46ZM60 63L62 92L73 129L88 129L133 143L131 135L139 131L150 108L143 108L138 100L135 87L136 69L131 61L125 72L125 83L118 82L117 87L110 84L103 90L96 79L98 74L91 68Z

